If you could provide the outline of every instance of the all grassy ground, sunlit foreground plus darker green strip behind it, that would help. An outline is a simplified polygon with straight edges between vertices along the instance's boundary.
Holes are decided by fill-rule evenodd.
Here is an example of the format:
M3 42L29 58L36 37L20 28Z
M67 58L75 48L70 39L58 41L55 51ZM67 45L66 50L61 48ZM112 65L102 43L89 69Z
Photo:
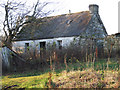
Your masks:
M69 63L67 72L65 65L62 64L60 69L55 69L55 72L52 73L52 86L80 88L115 88L118 86L119 64L116 61L111 60L109 70L106 69L105 60L96 61L94 69L92 64L91 62L89 64L85 62ZM2 88L47 88L49 72L48 68L43 72L34 70L4 75L2 76Z

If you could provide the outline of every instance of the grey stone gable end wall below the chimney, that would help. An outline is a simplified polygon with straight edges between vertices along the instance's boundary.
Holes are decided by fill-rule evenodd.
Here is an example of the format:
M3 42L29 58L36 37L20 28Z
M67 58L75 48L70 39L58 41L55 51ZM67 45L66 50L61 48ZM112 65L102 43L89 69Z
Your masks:
M92 16L85 34L87 35L86 37L92 37L97 39L107 36L107 32L98 14L94 14Z

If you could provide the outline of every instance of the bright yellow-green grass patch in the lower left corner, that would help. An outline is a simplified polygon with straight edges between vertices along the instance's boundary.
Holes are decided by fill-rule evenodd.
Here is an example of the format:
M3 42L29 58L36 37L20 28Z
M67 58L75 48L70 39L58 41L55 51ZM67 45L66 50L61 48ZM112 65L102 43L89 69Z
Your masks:
M43 88L45 82L47 82L48 74L43 74L39 76L28 76L28 77L18 77L9 78L5 77L2 80L2 87L8 87L16 85L16 88Z

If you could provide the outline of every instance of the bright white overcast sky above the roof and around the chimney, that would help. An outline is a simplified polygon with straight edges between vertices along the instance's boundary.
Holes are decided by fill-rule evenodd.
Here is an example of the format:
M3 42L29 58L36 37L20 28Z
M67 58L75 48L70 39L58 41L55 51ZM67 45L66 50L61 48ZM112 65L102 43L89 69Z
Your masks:
M6 0L0 0L6 1ZM17 0L16 0L17 1ZM24 0L25 1L25 0ZM26 0L29 4L35 3L37 0ZM81 11L88 11L89 4L99 5L99 14L108 34L118 33L118 2L119 0L40 0L55 2L49 5L47 9L56 9L51 16L61 15ZM59 3L58 3L59 2ZM58 3L58 4L56 4ZM2 11L2 9L0 9ZM3 14L0 13L0 17Z

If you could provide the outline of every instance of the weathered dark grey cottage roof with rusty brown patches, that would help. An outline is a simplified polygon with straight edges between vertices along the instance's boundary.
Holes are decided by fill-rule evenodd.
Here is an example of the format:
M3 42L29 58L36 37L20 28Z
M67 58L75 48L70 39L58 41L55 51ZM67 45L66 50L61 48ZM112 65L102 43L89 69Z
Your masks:
M14 40L78 36L86 30L90 19L89 11L37 19L24 26Z

